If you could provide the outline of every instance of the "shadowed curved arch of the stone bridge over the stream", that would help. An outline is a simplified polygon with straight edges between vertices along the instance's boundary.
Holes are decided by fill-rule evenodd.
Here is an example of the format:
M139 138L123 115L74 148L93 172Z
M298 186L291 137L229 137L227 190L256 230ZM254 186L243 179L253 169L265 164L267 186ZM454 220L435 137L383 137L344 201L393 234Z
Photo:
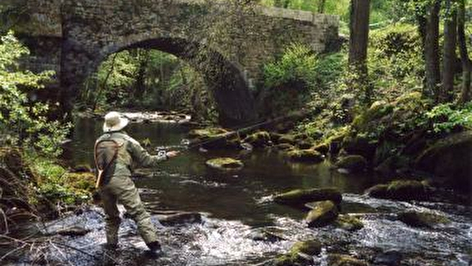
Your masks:
M147 34L133 35L126 42L113 41L112 45L101 47L96 55L87 55L84 47L68 44L62 49L64 60L62 87L70 88L67 98L75 98L84 81L97 71L101 62L110 54L132 48L156 49L170 53L188 62L199 71L217 104L219 119L224 124L237 124L257 118L253 95L250 93L244 72L234 62L207 45L181 37L149 37ZM83 59L78 61L78 58ZM62 102L67 102L63 99Z

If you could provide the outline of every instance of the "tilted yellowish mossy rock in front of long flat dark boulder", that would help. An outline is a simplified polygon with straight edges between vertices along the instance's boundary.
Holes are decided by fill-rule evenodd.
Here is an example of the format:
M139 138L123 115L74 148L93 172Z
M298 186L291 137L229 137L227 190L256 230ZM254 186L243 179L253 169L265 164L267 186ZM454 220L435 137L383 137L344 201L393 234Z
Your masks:
M307 214L305 222L309 227L322 227L334 222L337 218L337 206L330 200L313 204L313 209Z

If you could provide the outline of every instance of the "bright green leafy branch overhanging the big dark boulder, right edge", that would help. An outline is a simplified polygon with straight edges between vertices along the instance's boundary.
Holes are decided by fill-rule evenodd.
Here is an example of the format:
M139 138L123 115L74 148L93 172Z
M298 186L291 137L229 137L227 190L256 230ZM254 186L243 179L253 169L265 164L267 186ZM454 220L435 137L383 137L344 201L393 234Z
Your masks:
M472 129L472 103L463 107L451 103L434 106L426 116L432 123L434 133L451 133L461 129Z

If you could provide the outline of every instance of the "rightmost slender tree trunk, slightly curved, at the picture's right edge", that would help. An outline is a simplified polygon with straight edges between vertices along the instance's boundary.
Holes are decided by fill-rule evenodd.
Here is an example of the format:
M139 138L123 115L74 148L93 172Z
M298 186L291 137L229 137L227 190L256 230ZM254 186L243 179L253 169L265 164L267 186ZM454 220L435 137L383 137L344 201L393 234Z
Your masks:
M465 0L459 0L457 37L459 41L459 51L462 62L462 91L459 97L459 104L464 104L471 100L471 60L469 58L469 54L467 53L467 43L465 39Z

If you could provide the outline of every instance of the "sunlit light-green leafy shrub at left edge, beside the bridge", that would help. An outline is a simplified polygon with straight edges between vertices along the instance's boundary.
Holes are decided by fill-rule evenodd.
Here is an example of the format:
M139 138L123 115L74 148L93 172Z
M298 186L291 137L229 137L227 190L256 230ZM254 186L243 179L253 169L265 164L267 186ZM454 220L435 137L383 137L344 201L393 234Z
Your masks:
M17 61L28 53L12 32L1 37L0 142L39 148L47 155L57 156L70 125L50 121L47 118L50 106L29 99L28 94L42 89L53 72L34 74L20 70Z

